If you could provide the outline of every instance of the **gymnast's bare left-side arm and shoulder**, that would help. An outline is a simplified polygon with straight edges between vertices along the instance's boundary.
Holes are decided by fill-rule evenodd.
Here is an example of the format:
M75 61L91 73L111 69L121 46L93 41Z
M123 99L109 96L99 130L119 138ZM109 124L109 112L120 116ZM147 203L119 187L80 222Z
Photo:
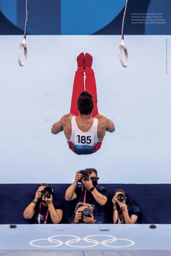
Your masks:
M64 130L64 127L66 125L69 124L69 122L71 123L71 117L73 116L73 114L66 114L64 115L60 121L54 123L54 125L52 126L51 132L53 134L58 134L60 132L62 132Z

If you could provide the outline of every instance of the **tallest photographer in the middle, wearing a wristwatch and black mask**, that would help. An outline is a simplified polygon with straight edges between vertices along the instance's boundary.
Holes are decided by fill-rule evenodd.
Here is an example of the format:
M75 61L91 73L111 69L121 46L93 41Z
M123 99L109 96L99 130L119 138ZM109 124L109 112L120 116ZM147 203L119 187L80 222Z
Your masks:
M88 173L88 180L83 179L85 172ZM66 190L65 200L71 201L78 198L79 202L94 205L96 220L103 222L106 211L107 189L98 184L98 179L97 171L94 168L78 171L75 175L75 181ZM78 182L81 184L78 184Z

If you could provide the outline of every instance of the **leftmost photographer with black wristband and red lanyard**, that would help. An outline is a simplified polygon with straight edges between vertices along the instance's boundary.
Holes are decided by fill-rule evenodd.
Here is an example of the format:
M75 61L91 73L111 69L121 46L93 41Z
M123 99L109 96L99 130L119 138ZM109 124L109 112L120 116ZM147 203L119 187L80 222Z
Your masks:
M62 219L63 210L59 204L53 202L52 192L47 184L42 183L35 193L35 199L25 209L24 218L33 218L35 224L58 224Z

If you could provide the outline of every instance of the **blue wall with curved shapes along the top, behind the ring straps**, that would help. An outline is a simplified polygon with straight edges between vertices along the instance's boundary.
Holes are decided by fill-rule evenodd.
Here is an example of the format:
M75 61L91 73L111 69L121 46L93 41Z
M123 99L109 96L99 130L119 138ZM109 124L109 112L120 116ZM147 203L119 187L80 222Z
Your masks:
M25 2L25 0L0 0L1 35L23 34ZM47 0L27 0L27 3L27 33L31 35L120 35L126 0L51 0L48 1L48 5ZM133 24L131 21L132 13L141 16L141 14L159 12L163 24L157 22L145 24L144 21ZM171 35L170 12L170 0L129 0L124 33Z

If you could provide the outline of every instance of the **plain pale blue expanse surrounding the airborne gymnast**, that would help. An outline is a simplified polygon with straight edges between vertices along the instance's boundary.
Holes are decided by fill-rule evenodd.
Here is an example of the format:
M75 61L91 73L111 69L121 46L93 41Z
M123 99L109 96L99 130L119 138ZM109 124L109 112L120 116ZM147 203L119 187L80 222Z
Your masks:
M0 40L1 183L71 183L87 167L98 170L101 183L171 183L166 36L126 36L126 69L118 58L120 36L28 36L23 68L17 62L22 37ZM94 58L99 112L116 126L88 156L69 150L63 133L51 134L70 110L82 51Z

